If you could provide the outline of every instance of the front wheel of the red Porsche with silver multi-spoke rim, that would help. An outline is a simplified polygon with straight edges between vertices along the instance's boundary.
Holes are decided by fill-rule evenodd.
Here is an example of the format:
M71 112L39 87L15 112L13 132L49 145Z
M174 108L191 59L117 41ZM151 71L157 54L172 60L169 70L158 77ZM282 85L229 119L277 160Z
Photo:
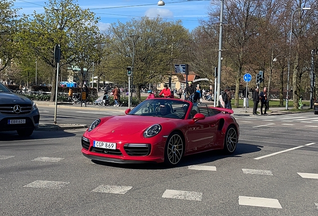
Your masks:
M169 135L164 149L164 163L172 166L176 165L183 155L184 145L181 135L173 132Z

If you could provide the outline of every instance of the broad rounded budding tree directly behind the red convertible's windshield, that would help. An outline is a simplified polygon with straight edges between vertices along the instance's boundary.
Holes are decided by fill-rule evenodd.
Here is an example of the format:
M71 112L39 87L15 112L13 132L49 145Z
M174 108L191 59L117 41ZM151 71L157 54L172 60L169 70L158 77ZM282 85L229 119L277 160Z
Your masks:
M140 98L141 86L151 82L162 82L170 75L173 59L182 59L189 40L188 31L180 21L163 21L162 18L142 17L124 23L113 23L110 27L110 54L108 77L122 82L127 80L126 67L132 64L133 44L129 35L139 38L134 49L133 84ZM171 45L173 52L171 55Z

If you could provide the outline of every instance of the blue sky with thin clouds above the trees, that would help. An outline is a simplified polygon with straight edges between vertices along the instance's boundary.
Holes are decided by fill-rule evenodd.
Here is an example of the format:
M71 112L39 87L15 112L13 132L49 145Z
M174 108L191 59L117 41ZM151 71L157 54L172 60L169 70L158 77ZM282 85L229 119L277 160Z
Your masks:
M157 14L166 20L180 19L185 28L192 30L199 25L199 19L207 19L207 9L210 3L218 3L214 0L163 1L165 2L164 6L157 6L158 0L78 0L77 4L82 8L91 9L96 13L96 16L100 16L98 23L100 30L104 30L109 26L109 23L117 20L125 23L132 17L156 17ZM47 0L15 0L14 7L21 8L19 14L32 14L34 10L41 13L44 11L44 2Z

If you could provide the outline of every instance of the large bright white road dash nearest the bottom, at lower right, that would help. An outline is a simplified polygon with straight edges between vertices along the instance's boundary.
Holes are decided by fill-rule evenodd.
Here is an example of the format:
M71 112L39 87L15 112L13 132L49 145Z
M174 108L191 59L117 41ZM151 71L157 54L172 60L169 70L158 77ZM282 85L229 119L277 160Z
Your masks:
M259 207L281 208L278 199L262 197L238 196L238 204Z

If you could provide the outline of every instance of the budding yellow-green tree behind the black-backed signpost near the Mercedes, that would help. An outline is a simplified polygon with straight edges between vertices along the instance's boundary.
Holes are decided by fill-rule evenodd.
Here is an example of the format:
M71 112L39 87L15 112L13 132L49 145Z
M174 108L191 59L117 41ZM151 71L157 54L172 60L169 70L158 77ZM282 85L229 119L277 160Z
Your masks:
M56 62L53 49L55 44L61 47L61 62L71 64L78 62L78 49L82 48L83 41L78 37L94 38L98 33L96 23L98 18L89 9L82 9L77 1L49 0L44 6L44 13L34 11L32 17L23 17L23 27L19 35L26 48L31 48L47 65L52 76L52 91L50 100L55 98ZM87 42L89 43L89 42Z

